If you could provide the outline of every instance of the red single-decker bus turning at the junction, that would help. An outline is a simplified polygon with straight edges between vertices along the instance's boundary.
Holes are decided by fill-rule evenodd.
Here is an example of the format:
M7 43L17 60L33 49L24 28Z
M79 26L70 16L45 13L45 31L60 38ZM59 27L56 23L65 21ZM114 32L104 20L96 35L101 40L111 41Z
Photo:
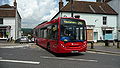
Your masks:
M35 43L55 53L79 53L87 49L86 23L72 17L59 17L34 28Z

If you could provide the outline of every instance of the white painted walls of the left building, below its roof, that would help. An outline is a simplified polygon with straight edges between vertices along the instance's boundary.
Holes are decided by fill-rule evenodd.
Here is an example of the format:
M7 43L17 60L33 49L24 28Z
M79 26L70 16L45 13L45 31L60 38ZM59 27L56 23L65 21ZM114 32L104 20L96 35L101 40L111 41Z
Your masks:
M17 40L21 37L21 18L17 14L16 17L3 18L4 26L11 26L9 38L13 37L13 40Z

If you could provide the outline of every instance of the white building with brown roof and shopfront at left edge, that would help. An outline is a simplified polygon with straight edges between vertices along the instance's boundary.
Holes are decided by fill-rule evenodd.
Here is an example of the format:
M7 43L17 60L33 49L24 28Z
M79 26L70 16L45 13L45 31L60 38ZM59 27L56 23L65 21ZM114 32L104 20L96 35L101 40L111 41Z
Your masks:
M8 4L0 6L0 39L17 40L21 37L21 16L17 11L16 0L14 6Z

